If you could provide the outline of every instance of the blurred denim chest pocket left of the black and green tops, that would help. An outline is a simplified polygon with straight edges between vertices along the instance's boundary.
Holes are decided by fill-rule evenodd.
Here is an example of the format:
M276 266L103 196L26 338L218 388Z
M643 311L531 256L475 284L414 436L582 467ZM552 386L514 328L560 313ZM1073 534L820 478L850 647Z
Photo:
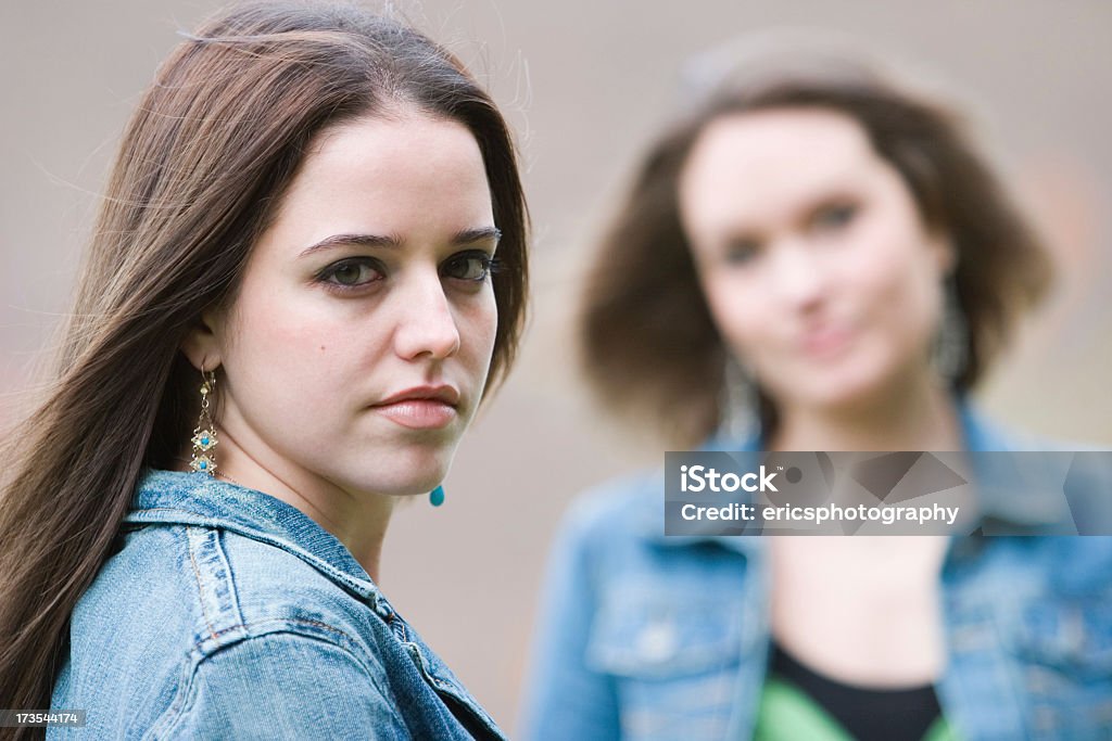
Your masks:
M587 664L614 678L623 738L721 739L736 693L746 624L739 599L618 590L596 613Z

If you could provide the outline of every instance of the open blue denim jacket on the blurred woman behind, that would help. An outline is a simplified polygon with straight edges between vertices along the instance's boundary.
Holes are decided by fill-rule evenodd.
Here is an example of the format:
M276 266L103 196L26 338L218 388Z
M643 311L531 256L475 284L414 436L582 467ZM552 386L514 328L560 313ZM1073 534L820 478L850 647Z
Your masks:
M964 404L961 415L969 450L1039 449ZM523 738L752 738L771 645L766 544L666 538L663 492L653 471L588 492L566 515ZM987 513L1032 517L1007 501ZM952 538L941 579L947 660L935 690L961 738L1112 739L1112 537Z

